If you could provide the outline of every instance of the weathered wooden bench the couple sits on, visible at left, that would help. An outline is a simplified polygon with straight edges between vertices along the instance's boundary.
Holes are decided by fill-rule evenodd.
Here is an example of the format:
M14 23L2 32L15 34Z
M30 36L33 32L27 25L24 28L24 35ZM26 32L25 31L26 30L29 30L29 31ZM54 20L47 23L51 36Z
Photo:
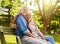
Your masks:
M4 26L0 26L0 39L1 39L1 44L6 44L6 40L5 40L5 37L4 37L4 34L7 34L7 35L14 35L15 32L12 30L11 27L4 27ZM16 36L18 38L18 43L17 44L21 44L21 41L20 41L20 38L18 36Z

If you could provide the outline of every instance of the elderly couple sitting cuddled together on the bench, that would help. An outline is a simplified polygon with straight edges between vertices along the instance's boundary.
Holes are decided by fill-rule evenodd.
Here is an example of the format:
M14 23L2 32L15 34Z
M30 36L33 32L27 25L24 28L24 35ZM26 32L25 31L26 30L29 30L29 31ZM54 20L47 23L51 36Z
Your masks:
M54 44L51 36L44 36L32 21L28 8L23 6L20 13L14 17L13 27L17 36L24 44Z

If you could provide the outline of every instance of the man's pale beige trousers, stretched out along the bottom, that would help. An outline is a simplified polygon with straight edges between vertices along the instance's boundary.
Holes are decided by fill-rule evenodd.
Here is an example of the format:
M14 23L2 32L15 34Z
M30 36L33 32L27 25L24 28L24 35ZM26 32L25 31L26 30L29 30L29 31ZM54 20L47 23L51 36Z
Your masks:
M47 42L45 42L43 40L38 40L38 39L35 39L35 38L32 38L32 37L28 37L28 36L24 36L22 38L22 41L25 44L48 44Z

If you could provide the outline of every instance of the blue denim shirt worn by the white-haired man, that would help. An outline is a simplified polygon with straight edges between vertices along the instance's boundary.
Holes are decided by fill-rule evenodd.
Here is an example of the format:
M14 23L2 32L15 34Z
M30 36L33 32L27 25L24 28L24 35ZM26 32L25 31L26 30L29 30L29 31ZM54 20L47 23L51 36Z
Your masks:
M16 19L16 24L18 28L16 29L16 34L20 36L21 38L29 33L27 26L26 26L26 20L22 15L19 15Z

